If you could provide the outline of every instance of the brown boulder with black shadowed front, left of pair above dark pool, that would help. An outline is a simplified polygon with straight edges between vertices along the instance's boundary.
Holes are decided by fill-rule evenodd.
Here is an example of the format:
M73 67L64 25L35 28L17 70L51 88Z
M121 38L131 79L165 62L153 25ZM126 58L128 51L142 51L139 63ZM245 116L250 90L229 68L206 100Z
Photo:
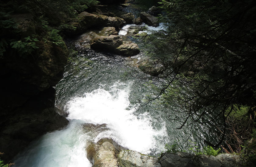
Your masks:
M123 44L123 40L120 38L120 36L117 36L117 35L97 36L93 39L91 48L115 51L115 49L122 44Z

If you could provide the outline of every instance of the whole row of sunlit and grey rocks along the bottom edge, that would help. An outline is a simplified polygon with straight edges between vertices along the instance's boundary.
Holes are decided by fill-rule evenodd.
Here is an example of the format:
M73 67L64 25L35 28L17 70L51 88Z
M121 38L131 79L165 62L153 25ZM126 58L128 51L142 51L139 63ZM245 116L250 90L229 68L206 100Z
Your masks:
M152 157L129 150L109 138L97 143L87 143L87 158L92 167L233 167L243 166L241 157L235 154L194 155L186 152L167 153Z

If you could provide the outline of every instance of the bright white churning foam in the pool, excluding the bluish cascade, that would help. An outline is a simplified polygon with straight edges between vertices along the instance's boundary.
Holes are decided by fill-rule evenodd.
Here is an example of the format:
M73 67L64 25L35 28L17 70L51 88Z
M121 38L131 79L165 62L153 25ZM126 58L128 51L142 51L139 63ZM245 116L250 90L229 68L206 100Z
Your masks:
M118 85L111 91L94 90L69 101L66 110L68 119L79 119L87 123L107 124L110 130L102 131L94 141L112 138L124 147L144 154L157 146L155 137L166 136L165 126L155 130L147 114L135 116L130 107L129 87L119 90ZM114 94L113 94L114 92ZM127 108L131 109L127 109Z

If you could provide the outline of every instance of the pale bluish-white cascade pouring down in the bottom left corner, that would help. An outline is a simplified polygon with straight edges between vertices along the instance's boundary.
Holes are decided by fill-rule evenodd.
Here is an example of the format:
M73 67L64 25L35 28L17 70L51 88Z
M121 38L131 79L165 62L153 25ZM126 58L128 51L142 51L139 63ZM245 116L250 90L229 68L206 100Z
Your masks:
M81 121L70 121L67 128L47 133L17 155L15 166L83 166L91 167L85 144L90 138L83 133Z

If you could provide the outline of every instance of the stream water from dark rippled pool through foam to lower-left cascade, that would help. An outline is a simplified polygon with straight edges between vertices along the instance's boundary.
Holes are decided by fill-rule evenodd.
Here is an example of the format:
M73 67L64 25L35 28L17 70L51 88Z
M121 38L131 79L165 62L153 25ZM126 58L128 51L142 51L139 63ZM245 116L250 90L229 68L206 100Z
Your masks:
M203 145L203 136L208 133L203 127L193 133L174 129L176 122L168 121L165 109L157 103L139 105L151 89L147 84L151 79L131 60L78 49L56 86L56 107L68 114L69 125L32 142L17 155L16 166L89 167L87 141L101 138L112 138L119 145L149 155L159 155L166 143L175 140L183 144L189 139ZM138 73L140 77L134 77Z

